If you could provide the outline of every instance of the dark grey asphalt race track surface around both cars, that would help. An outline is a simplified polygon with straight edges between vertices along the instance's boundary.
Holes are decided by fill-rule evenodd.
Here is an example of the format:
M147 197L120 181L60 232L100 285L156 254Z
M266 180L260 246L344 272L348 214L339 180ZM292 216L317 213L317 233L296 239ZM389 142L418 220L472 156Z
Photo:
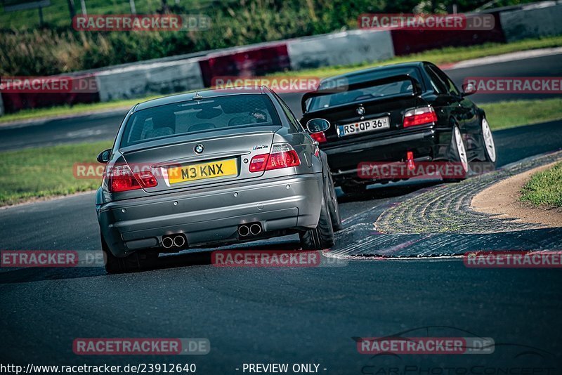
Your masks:
M457 82L469 75L560 76L562 58L450 74ZM505 99L474 98L476 103ZM288 101L298 112L298 100ZM112 138L121 117L2 129L1 149ZM507 169L561 150L562 121L494 136L498 167ZM329 253L346 248L378 254L384 249L372 237L373 223L386 207L440 187L386 187L363 197L341 196L346 229ZM361 225L372 230L348 230ZM0 249L98 250L93 193L0 209L0 234ZM485 236L468 237L462 230L455 235L451 254L462 254L465 246L489 249ZM494 245L524 247L538 237L551 239L542 249L562 248L562 228L500 233ZM289 249L297 241L283 237L242 248ZM396 241L413 253L421 246L406 237ZM195 363L198 374L242 374L244 363L256 362L315 363L325 374L525 374L524 368L537 369L528 374L562 374L559 269L466 268L462 258L436 257L431 249L424 249L429 256L416 259L327 253L320 267L218 268L210 264L210 250L161 257L157 270L128 275L108 276L101 267L0 269L4 362ZM355 338L407 331L417 333L413 336L490 337L495 350L489 355L373 356L356 348ZM79 356L72 352L72 341L80 337L208 338L211 351L200 356ZM508 368L520 372L500 372Z

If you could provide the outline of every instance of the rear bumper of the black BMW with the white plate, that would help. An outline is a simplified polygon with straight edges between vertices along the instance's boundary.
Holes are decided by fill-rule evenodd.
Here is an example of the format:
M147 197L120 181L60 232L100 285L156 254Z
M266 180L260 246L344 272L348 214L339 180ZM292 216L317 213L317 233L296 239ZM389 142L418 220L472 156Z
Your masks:
M334 182L341 185L346 180L365 182L358 176L360 163L405 161L408 151L413 152L416 161L431 161L438 154L438 144L435 129L426 128L403 135L322 147L322 151L328 156Z

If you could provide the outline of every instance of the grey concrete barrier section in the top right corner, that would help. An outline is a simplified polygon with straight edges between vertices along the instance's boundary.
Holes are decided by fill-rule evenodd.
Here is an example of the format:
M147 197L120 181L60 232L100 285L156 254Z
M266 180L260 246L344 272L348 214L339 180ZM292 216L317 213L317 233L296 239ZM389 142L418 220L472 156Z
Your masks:
M562 1L544 1L499 14L507 41L562 34Z

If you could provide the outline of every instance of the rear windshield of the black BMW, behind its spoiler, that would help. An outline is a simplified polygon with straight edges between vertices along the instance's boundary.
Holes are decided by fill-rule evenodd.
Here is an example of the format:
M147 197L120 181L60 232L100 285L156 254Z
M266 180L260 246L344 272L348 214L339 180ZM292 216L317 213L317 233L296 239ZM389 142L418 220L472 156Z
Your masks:
M349 85L349 84L355 84L363 81L370 81L374 79L391 77L400 74L410 74L411 77L417 79L417 81L419 81L421 84L418 70L415 67L384 70L382 72L381 71L365 72L364 74L356 74L348 77L348 81L346 83ZM339 78L338 80L341 81L341 78ZM320 89L325 87L332 87L332 86L334 85L331 85L331 81L327 79L325 81L322 81L322 84L320 85ZM325 96L318 96L316 98L312 98L308 106L308 111L320 110L322 108L334 107L336 105L360 103L362 101L367 101L377 98L386 98L389 96L400 96L403 94L408 94L413 92L414 92L414 88L412 86L412 81L410 81L410 79L403 79L401 81L396 81L391 84L379 84L379 85L374 84L373 86L367 88L360 88L350 91L341 91Z

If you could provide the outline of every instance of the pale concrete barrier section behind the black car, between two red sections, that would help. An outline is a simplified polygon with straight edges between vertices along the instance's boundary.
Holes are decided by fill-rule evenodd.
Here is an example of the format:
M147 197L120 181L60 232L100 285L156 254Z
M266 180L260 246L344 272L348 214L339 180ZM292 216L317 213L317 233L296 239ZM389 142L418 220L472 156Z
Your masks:
M287 49L292 70L351 65L394 56L391 34L386 30L352 30L291 39Z

